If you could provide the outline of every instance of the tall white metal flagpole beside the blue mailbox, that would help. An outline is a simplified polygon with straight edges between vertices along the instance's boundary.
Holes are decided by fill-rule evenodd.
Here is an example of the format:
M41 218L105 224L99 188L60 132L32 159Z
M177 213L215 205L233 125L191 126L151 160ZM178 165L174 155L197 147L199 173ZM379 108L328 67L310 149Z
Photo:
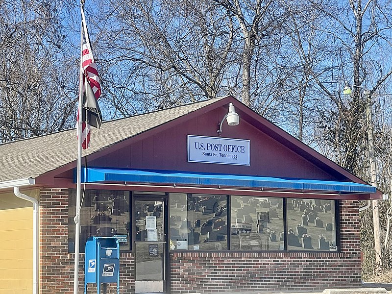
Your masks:
M80 1L80 12L83 13L84 0ZM78 276L79 276L79 238L80 238L80 194L81 194L81 170L82 170L82 105L83 105L83 63L82 63L82 45L83 45L83 20L81 21L80 31L80 76L79 76L79 102L77 120L77 175L76 175L76 206L75 206L75 258L73 271L73 294L78 293Z

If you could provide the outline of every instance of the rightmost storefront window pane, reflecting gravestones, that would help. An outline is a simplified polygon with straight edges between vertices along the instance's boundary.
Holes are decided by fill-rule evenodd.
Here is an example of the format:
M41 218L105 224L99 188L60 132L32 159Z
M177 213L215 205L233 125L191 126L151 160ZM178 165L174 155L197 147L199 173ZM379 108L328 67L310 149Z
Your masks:
M289 250L337 250L335 201L287 198Z

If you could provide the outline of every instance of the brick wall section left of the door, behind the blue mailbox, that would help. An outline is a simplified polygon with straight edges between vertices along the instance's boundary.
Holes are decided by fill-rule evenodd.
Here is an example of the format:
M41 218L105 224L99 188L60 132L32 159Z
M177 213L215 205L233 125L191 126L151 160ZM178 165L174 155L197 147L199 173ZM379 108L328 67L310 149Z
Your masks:
M79 254L79 293L84 292L84 254ZM73 294L74 254L68 253L68 189L41 189L40 294ZM133 293L135 257L120 253L120 293ZM107 293L117 293L116 284ZM97 293L89 284L88 293Z

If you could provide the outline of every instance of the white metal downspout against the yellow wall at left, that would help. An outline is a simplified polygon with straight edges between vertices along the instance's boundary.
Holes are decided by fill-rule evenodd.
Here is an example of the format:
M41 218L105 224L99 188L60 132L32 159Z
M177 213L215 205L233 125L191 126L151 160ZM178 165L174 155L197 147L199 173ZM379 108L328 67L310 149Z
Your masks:
M39 203L37 199L22 194L19 191L19 186L14 187L15 196L30 201L33 203L33 294L39 293L39 238L38 238L38 227L39 227Z

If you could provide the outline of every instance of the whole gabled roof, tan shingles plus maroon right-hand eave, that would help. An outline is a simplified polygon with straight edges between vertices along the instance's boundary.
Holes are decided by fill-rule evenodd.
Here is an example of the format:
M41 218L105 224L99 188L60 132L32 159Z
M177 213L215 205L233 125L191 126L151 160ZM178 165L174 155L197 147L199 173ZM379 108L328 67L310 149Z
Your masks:
M91 147L83 151L90 160L126 147L137 135L142 139L167 127L187 122L204 112L209 112L228 102L236 102L236 111L241 119L263 133L294 151L319 169L333 175L342 182L367 184L351 172L329 160L313 148L294 138L292 135L271 123L232 96L213 98L176 106L168 109L135 115L123 119L104 122L100 129L92 128ZM34 184L31 179L43 179L54 174L66 172L76 167L77 140L75 129L51 133L0 145L2 158L0 169L0 189ZM44 175L45 174L45 175ZM40 181L41 181L40 180ZM28 183L26 183L26 181ZM41 182L44 184L46 180ZM381 198L377 190L372 198ZM370 195L369 195L370 196Z

